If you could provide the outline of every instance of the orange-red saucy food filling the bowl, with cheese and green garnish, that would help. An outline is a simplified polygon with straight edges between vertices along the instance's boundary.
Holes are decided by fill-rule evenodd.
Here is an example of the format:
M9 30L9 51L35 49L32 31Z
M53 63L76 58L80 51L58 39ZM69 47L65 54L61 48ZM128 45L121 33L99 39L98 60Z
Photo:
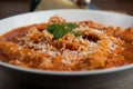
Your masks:
M91 20L68 22L53 16L45 23L2 34L0 60L57 71L115 68L133 63L133 28L106 27Z

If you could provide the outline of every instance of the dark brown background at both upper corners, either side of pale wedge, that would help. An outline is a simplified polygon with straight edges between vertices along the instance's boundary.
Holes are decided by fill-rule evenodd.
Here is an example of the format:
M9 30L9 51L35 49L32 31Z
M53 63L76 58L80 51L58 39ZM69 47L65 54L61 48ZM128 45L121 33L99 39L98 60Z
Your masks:
M133 0L92 0L92 3L100 10L133 16ZM29 12L33 10L34 6L33 0L0 0L0 19Z

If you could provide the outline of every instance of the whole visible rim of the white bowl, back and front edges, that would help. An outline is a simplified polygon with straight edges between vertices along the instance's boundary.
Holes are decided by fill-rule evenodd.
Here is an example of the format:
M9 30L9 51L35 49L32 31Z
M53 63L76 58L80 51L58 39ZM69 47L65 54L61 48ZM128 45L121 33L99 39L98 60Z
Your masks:
M129 17L132 18L132 16L129 14L122 14L117 12L110 12L110 11L101 11L101 10L82 10L82 9L59 9L59 10L44 10L44 11L34 11L34 12L25 12L25 13L20 13L16 16L8 17L6 19L1 19L1 21L8 20L8 19L13 19L17 17L21 16L27 16L27 14L32 14L32 13L41 13L41 12L50 12L50 11L88 11L88 12L98 12L98 13L110 13L112 16L117 14L117 16L123 16L123 17ZM39 73L39 75L54 75L54 76L89 76L89 75L102 75L102 73L110 73L110 72L116 72L116 71L122 71L122 70L127 70L133 68L133 65L126 65L117 68L109 68L109 69L100 69L100 70L88 70L88 71L51 71L51 70L40 70L40 69L29 69L29 68L23 68L23 67L18 67L13 66L10 63L6 63L0 61L0 66L13 70L19 70L19 71L24 71L24 72L31 72L31 73Z

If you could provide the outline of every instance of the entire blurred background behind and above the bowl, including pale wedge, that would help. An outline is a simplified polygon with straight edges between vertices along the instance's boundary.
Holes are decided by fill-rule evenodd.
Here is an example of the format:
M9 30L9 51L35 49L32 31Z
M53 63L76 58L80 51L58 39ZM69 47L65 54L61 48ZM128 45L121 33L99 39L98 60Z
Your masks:
M96 9L133 16L133 0L0 0L0 19L50 9Z

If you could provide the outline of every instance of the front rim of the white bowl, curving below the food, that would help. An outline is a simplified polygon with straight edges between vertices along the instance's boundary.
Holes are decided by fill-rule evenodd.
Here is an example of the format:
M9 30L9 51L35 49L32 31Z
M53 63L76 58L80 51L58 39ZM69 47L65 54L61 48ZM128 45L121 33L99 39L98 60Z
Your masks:
M41 70L41 69L30 69L30 68L23 68L19 66L13 66L10 63L6 63L0 61L0 66L13 69L18 71L29 72L29 73L38 73L38 75L54 75L54 76L91 76L91 75L105 75L111 72L117 72L123 71L127 69L132 69L133 65L126 65L122 67L116 68L109 68L109 69L100 69L100 70L85 70L85 71L52 71L52 70Z

